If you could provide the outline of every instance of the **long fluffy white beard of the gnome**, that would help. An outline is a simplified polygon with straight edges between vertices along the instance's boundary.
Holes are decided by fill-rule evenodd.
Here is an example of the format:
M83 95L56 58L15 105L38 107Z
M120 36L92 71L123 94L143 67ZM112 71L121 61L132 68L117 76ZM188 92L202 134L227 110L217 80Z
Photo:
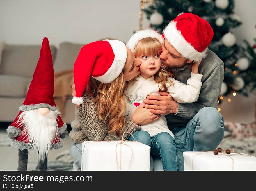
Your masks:
M46 116L39 115L37 109L24 111L19 116L23 127L22 134L29 137L29 148L38 151L38 160L43 162L48 155L53 140L58 135L57 116L59 111L49 111Z

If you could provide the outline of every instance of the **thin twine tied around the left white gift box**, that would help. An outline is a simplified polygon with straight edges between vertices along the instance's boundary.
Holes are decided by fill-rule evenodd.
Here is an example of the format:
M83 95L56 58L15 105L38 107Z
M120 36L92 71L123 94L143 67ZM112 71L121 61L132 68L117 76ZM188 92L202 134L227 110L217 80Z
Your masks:
M133 157L133 150L132 150L132 148L131 148L129 145L123 143L124 141L128 141L128 140L126 140L126 139L124 138L124 134L125 134L125 133L129 133L129 134L132 136L132 138L134 139L133 141L129 141L129 142L138 142L138 141L135 140L134 136L133 136L130 132L128 132L128 131L123 132L121 142L118 143L118 144L120 144L120 170L121 170L121 166L122 166L122 148L121 148L121 145L122 145L122 144L123 144L123 145L126 145L127 147L129 147L129 148L131 149L131 159L130 159L129 168L128 168L129 170L130 170L131 160L132 160L132 157ZM85 145L88 144L88 143L93 143L93 142L111 142L111 141L90 141L90 142L87 142L87 143L84 144L83 153L84 153L84 150L85 150ZM116 146L115 146L115 155L116 155L117 170L118 170L118 161L117 161L117 145L118 145L118 144L116 144ZM81 167L82 167L82 168L81 168L81 169L83 169L83 156L84 156L84 155L82 155L82 164L81 164Z

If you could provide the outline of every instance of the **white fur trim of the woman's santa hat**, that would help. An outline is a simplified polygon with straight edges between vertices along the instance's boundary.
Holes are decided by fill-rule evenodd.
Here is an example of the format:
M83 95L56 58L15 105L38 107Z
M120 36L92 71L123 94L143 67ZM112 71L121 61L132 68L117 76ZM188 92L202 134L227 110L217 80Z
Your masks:
M115 80L115 78L117 78L119 74L122 72L127 58L127 49L125 44L119 40L106 39L105 41L109 42L110 46L113 49L115 55L114 61L111 67L104 75L92 77L102 83L110 83L113 80Z

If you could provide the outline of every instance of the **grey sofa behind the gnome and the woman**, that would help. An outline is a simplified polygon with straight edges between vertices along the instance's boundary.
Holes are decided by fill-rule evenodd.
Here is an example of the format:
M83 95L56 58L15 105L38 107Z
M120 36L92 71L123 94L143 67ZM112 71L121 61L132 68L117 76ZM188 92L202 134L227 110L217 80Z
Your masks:
M83 44L63 42L57 49L50 46L54 72L73 69L74 62ZM5 44L0 59L0 122L12 122L19 113L29 83L40 56L41 45ZM62 119L67 124L74 120L75 106L69 97Z

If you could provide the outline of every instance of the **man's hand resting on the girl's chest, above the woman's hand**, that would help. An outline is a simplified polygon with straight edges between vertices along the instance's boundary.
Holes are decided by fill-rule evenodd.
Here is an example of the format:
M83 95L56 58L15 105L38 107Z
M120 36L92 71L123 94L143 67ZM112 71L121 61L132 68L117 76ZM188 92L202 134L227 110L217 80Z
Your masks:
M149 95L144 100L145 108L151 109L151 112L159 115L177 113L178 103L167 92L159 92L159 95Z

